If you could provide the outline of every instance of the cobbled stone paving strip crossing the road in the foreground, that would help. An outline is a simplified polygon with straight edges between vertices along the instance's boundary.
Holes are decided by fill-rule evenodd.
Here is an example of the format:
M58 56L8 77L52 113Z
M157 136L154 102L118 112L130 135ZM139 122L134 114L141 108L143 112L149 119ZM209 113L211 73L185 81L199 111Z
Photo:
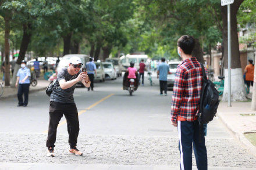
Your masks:
M68 136L58 134L55 157L46 157L46 134L0 133L0 162L179 166L178 139L158 136L79 135L83 156L68 154ZM255 168L256 158L233 138L207 138L209 167ZM193 165L195 161L193 158Z

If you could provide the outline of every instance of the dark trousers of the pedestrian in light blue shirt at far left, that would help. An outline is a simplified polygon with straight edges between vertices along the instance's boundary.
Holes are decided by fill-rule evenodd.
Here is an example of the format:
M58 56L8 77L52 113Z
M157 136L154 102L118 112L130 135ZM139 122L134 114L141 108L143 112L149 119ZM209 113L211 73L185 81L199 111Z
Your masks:
M19 84L17 97L19 100L19 105L27 105L29 103L29 83ZM23 93L24 93L24 102L23 102Z

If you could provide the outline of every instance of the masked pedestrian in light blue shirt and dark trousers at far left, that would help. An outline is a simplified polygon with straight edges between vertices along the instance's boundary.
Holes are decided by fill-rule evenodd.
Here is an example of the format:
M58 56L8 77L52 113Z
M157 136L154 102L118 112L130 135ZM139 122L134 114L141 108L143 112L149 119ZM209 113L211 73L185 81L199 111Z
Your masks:
M16 79L16 88L19 83L18 93L17 97L19 100L19 103L17 106L24 106L26 107L29 103L29 85L30 85L30 70L26 67L27 62L25 60L22 60L22 64L17 72L17 79ZM23 100L23 94L24 94L24 100Z

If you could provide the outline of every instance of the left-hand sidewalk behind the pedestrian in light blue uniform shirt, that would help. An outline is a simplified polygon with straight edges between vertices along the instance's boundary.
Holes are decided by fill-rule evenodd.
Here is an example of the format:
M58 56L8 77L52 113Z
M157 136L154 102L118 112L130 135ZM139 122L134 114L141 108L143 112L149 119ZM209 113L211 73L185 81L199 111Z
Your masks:
M42 91L45 88L47 88L47 86L49 85L49 81L45 80L45 79L37 79L37 85L36 86L31 86L29 87L29 93L33 93L33 92L38 92L38 91ZM0 97L1 99L5 99L8 97L16 97L17 96L17 88L11 88L11 87L6 87L3 86L3 95Z

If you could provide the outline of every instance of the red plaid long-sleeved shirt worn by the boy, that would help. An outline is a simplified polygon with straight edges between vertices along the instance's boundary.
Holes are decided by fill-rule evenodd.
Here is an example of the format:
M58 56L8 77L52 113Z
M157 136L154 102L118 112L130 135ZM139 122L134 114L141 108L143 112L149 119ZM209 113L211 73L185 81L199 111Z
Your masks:
M175 83L173 86L172 122L177 117L186 121L197 120L200 93L202 89L202 68L200 63L191 57L177 66Z

